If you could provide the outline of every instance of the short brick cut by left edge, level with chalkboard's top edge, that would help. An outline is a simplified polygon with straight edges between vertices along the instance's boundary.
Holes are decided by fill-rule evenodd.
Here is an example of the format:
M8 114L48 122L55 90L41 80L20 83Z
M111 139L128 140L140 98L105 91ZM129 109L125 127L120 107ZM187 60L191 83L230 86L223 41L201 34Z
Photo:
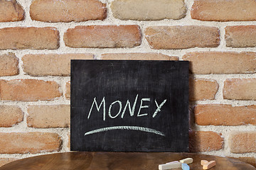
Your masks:
M0 55L0 76L14 76L18 73L18 58L14 53Z

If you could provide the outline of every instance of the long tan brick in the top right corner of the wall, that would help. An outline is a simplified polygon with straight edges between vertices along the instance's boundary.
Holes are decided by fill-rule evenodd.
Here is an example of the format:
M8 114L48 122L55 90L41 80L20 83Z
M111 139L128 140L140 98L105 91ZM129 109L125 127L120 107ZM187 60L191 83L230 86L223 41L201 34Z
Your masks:
M255 0L195 0L191 17L201 21L255 21Z

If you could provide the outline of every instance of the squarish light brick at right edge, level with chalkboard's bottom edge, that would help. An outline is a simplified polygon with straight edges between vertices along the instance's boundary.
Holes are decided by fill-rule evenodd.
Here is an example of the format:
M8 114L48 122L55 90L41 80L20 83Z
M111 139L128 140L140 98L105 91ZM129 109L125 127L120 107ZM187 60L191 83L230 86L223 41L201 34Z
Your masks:
M228 145L232 153L256 152L256 132L255 131L233 131L230 132Z

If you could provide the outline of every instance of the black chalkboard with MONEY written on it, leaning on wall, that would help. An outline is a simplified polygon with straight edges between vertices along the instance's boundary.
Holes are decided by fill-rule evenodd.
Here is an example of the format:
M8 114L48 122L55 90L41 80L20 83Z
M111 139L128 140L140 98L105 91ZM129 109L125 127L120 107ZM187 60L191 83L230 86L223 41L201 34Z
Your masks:
M188 62L71 60L71 150L188 152Z

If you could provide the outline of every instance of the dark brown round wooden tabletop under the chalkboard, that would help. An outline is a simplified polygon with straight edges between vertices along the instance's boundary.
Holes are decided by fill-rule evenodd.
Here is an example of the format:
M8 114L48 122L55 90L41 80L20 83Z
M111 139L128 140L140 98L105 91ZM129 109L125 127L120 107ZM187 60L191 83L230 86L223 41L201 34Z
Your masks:
M68 152L29 157L1 166L0 170L154 170L159 164L187 157L193 158L191 170L202 169L201 159L215 160L211 170L255 170L254 166L236 159L192 153L170 152Z

